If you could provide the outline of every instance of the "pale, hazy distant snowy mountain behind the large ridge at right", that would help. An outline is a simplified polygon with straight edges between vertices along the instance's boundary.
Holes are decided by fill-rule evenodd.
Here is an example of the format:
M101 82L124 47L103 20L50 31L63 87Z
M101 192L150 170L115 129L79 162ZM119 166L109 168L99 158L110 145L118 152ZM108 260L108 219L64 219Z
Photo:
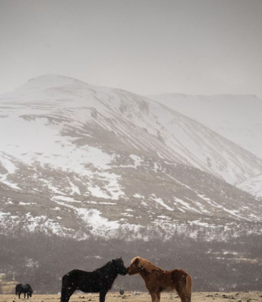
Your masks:
M252 95L149 96L262 158L262 100Z

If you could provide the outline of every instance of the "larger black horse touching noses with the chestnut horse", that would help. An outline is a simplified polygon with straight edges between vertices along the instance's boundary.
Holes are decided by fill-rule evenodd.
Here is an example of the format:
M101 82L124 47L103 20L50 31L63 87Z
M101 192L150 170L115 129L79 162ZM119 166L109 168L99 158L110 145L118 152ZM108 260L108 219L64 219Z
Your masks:
M126 273L121 258L112 259L93 272L74 269L62 277L61 302L68 302L76 289L84 292L99 292L99 302L104 302L105 295L117 275L126 275Z

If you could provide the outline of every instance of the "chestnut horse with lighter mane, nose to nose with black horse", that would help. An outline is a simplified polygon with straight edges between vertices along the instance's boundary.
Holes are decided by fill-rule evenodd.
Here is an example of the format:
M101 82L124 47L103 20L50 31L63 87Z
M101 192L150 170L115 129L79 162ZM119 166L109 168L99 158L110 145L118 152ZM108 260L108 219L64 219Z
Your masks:
M182 269L162 270L146 259L135 257L127 267L128 275L140 274L151 294L152 302L160 302L162 291L176 290L181 302L191 301L192 278Z

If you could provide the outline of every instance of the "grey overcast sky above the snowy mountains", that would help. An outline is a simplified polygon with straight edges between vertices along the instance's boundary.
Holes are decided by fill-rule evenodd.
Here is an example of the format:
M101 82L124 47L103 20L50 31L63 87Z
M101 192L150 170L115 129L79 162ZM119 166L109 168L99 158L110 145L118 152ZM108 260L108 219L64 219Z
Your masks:
M262 97L262 1L0 0L0 93L55 73L138 94Z

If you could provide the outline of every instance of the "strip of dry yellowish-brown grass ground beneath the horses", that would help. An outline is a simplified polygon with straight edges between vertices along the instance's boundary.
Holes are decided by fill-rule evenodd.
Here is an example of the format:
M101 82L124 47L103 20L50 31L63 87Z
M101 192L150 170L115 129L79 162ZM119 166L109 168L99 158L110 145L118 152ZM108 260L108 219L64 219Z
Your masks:
M32 298L28 301L31 302L43 302L43 301L58 301L60 295L58 294L33 294ZM119 302L122 299L128 299L130 302L150 302L151 296L147 292L125 292L124 295L120 296L118 292L109 292L106 295L107 302ZM18 302L24 301L25 299L18 299L14 294L1 294L0 302ZM27 299L26 299L27 300ZM224 292L224 291L212 291L212 292L193 292L192 293L192 302L250 302L262 301L262 291L235 291L235 292ZM84 302L84 301L99 301L99 294L73 294L70 298L71 302ZM172 293L163 293L161 296L161 301L174 301L180 302L180 298L175 292Z

